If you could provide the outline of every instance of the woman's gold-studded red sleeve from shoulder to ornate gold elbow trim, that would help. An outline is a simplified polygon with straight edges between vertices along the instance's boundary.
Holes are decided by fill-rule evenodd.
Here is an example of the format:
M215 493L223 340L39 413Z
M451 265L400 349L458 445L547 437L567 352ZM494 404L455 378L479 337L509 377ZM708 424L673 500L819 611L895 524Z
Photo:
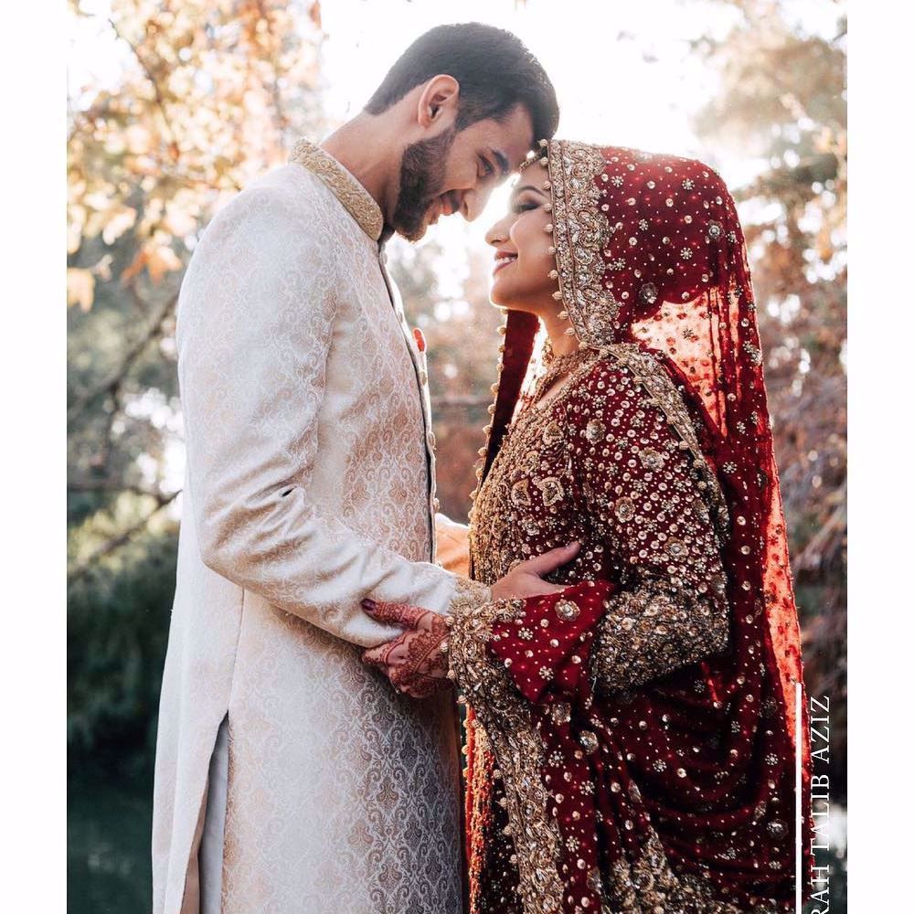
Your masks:
M594 638L595 687L639 685L722 651L719 489L672 381L600 360L569 398L567 434L581 501L618 581Z

